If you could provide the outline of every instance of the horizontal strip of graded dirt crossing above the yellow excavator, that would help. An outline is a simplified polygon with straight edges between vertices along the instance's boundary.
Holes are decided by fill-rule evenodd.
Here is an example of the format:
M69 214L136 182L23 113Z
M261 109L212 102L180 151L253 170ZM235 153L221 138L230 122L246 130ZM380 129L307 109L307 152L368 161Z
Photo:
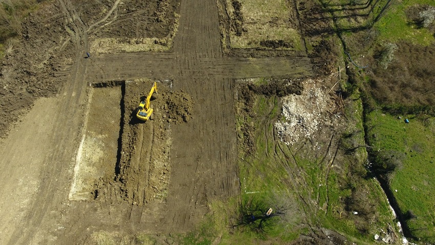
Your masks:
M94 60L93 60L94 61ZM170 77L185 76L216 78L250 78L312 74L312 65L307 57L268 58L180 58L172 54L104 54L95 59L90 74L97 79L113 80L125 77ZM144 64L138 69L135 64ZM151 68L152 67L152 68Z

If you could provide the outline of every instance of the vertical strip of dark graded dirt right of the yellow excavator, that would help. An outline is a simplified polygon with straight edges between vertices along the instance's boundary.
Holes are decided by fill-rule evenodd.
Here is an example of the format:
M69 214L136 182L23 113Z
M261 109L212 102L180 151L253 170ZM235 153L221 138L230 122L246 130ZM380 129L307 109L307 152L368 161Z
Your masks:
M189 1L180 12L174 53L181 72L174 89L186 91L197 103L193 119L172 129L172 175L164 220L169 231L191 229L207 212L209 201L240 192L231 81L205 75L193 78L184 72L198 67L201 57L222 57L217 6L211 0ZM186 142L192 144L186 147Z

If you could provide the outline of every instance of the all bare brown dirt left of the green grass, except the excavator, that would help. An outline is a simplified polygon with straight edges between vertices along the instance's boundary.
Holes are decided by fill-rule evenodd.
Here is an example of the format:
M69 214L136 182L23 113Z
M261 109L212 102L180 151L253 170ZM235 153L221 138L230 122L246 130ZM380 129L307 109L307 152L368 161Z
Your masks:
M234 79L311 75L307 57L226 57L215 1L139 2L59 0L26 20L1 73L0 243L192 229L207 203L240 193ZM84 58L124 36L173 44ZM155 118L140 123L155 80Z

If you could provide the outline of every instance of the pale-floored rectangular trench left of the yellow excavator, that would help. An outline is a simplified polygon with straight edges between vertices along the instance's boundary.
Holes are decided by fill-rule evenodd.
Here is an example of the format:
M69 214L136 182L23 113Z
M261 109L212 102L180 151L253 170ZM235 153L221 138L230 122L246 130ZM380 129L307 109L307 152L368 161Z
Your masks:
M70 200L96 198L97 187L119 174L124 94L124 81L92 84Z

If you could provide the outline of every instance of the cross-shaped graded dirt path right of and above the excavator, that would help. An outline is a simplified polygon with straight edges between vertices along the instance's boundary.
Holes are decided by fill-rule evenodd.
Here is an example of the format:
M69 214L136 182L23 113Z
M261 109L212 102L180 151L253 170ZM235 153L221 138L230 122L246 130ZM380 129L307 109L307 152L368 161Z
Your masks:
M213 0L183 1L170 53L104 54L88 69L97 81L172 78L196 101L193 119L172 128L171 184L165 227L186 230L203 217L207 201L240 193L236 166L234 78L302 76L307 57L225 57ZM186 168L187 167L187 168Z

